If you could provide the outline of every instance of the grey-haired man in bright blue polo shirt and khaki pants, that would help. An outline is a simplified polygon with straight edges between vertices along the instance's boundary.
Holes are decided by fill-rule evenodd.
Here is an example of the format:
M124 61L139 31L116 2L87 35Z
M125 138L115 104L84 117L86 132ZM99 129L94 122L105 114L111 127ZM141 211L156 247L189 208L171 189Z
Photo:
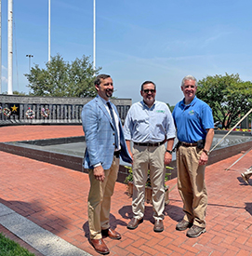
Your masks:
M185 216L176 226L187 236L197 237L206 232L207 193L205 168L214 137L211 108L195 94L197 80L192 75L183 78L184 99L173 110L179 140L177 148L178 189Z

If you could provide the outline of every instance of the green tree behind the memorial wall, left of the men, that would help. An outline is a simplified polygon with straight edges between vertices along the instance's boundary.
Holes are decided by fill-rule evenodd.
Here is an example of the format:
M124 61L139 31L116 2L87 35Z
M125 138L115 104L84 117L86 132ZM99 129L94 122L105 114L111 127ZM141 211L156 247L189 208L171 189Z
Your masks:
M24 75L33 96L95 97L94 78L99 70L93 70L89 57L85 55L69 63L57 54L46 62L45 69L35 64L31 73Z

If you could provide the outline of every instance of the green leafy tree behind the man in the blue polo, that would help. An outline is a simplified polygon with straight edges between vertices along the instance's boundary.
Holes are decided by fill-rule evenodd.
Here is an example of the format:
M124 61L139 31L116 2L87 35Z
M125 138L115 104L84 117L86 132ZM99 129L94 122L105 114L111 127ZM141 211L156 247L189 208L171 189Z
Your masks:
M206 76L198 82L197 97L212 108L215 121L231 128L252 108L252 83L239 74Z

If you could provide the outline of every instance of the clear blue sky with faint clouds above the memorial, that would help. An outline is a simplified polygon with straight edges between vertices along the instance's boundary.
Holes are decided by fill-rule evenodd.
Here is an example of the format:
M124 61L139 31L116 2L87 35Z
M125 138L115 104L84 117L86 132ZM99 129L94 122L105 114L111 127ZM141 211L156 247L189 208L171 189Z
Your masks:
M28 92L23 75L48 61L47 0L13 0L13 90ZM250 0L96 0L100 73L111 74L114 96L141 99L153 80L156 100L175 105L187 74L240 74L252 80ZM51 56L93 61L93 0L51 0ZM7 0L2 1L2 91L7 91Z

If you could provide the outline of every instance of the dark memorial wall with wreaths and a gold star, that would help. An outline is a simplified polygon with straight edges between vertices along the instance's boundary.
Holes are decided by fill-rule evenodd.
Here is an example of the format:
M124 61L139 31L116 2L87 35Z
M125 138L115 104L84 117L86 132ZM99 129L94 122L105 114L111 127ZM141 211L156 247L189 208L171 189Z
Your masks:
M0 95L0 126L81 124L83 106L92 98ZM124 123L130 99L112 99Z

